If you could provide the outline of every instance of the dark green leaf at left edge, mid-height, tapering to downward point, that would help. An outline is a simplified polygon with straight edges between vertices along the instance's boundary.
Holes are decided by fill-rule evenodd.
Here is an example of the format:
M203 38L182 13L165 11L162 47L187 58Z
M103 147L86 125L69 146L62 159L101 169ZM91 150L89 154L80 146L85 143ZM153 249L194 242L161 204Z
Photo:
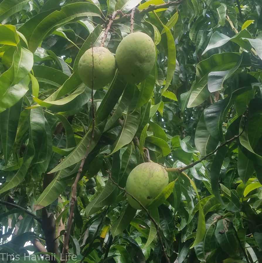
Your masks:
M0 134L2 150L4 153L5 164L11 154L13 144L16 139L16 131L18 127L18 121L22 110L23 99L18 101L11 108L0 113Z

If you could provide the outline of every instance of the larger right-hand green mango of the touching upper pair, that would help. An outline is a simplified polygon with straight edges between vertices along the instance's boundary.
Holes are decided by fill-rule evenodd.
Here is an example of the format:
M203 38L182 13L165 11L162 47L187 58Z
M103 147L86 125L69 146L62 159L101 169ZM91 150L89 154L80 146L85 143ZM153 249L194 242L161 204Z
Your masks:
M115 52L115 61L120 74L132 84L141 82L150 74L155 60L154 42L142 32L124 37Z

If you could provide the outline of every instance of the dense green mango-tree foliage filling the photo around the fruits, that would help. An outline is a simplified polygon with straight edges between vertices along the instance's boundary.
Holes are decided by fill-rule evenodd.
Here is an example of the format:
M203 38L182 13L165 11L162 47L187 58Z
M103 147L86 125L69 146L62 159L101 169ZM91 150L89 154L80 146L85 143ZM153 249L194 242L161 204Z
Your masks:
M183 0L141 12L164 3L0 0L1 253L62 252L71 186L88 153L67 233L78 261L262 260L261 0ZM134 31L154 40L156 65L138 85L116 72L91 101L79 59L101 44L115 10L135 7ZM113 21L112 53L129 18ZM125 187L147 161L144 148L174 168L151 218L111 180Z

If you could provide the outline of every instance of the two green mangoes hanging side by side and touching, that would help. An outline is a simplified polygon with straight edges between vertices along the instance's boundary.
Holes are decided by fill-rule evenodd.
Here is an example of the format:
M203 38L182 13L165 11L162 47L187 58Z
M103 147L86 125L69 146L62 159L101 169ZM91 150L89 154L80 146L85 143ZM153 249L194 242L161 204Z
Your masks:
M136 32L124 37L115 56L105 47L93 47L93 51L88 49L79 60L78 72L89 88L93 85L93 89L101 89L111 82L117 65L123 78L136 84L149 75L155 59L152 39L147 34Z

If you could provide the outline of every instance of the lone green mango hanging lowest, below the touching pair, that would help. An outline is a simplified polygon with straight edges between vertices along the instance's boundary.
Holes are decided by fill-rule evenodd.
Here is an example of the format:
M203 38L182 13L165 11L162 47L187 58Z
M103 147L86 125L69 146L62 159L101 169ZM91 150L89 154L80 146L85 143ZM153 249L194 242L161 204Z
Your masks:
M135 209L147 206L168 185L168 174L165 168L157 163L144 162L137 165L129 174L126 182L127 200Z

